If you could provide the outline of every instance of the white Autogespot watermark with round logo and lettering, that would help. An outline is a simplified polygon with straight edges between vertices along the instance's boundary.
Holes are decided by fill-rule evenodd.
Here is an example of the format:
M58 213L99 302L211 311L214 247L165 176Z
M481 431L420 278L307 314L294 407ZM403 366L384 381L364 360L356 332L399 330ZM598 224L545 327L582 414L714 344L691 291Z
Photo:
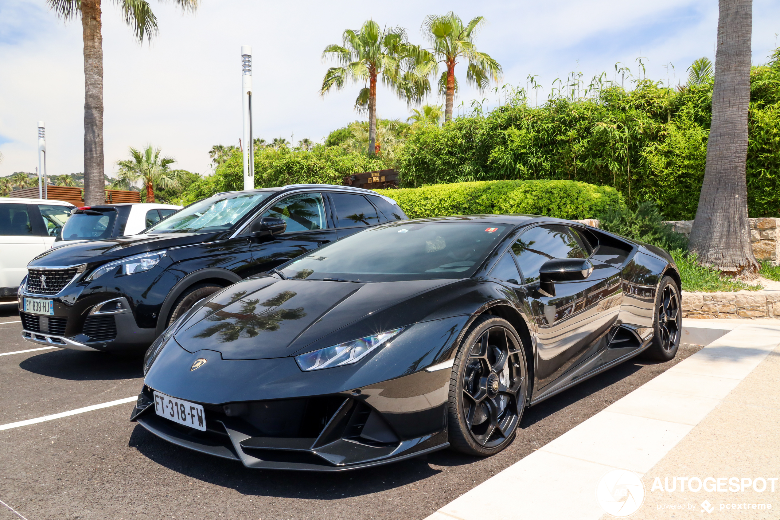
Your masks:
M688 503L655 504L656 509L697 511L710 514L713 511L756 511L765 512L772 509L767 502L777 497L775 488L780 477L726 477L726 476L673 476L654 477L648 499L690 499ZM660 497L654 493L707 493L707 498ZM723 497L714 493L752 493L750 497ZM756 496L755 493L761 493ZM763 495L763 496L762 496ZM629 469L612 469L602 476L596 486L596 497L601 508L608 515L618 518L627 517L639 511L644 504L646 491L640 476ZM701 499L704 498L704 501ZM714 502L714 504L711 503ZM650 506L652 507L652 506Z

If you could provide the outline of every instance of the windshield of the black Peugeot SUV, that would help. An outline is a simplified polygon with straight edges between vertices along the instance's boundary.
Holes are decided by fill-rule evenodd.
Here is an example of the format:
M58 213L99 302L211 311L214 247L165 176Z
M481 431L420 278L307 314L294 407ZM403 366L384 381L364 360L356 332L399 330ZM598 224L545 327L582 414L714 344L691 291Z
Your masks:
M271 192L226 193L194 203L144 233L208 233L232 228Z

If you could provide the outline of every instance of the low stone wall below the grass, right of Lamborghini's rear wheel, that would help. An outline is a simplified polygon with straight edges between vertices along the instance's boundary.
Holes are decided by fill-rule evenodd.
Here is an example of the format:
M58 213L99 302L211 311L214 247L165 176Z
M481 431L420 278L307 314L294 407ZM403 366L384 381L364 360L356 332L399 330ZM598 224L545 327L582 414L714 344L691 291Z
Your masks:
M683 292L683 318L780 319L780 292Z

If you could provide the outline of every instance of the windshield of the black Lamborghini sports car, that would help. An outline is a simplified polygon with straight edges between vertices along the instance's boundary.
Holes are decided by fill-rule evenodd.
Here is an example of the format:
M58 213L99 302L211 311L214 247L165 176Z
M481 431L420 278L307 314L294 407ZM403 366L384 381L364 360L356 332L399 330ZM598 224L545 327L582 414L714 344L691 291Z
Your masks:
M469 278L511 226L393 222L328 244L282 269L287 278L401 281Z

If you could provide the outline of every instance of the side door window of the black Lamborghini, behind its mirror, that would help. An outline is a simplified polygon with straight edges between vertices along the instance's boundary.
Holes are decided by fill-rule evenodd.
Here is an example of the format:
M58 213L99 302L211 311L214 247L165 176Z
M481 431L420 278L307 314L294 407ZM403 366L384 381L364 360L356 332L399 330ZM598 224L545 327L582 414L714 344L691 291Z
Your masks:
M526 283L539 279L539 267L548 260L587 258L588 252L583 251L578 240L581 240L580 236L563 225L541 225L523 232L512 244L512 251L517 256Z

